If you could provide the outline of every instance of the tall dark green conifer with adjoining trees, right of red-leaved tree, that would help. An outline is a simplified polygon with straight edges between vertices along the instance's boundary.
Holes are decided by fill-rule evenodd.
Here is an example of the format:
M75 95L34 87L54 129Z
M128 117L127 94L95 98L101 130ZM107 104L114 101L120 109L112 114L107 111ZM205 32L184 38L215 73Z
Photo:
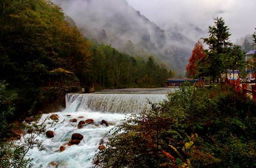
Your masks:
M215 82L215 79L224 78L223 74L227 80L230 70L241 71L245 67L245 54L239 46L232 47L233 44L229 41L231 34L224 20L218 17L214 20L215 26L209 26L209 37L203 38L209 49L206 57L197 64L197 76L210 76Z

